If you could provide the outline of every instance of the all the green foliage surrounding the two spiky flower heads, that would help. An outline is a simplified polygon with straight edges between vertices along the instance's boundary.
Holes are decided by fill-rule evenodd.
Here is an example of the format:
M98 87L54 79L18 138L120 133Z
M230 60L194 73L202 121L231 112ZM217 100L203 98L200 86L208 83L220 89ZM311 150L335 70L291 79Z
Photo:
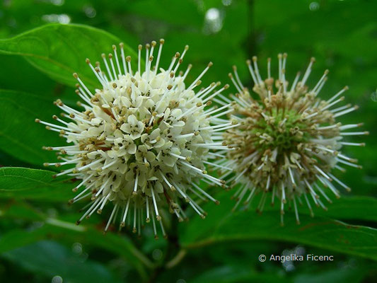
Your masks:
M219 12L218 22L206 20L209 8ZM64 282L375 281L376 8L373 1L363 0L293 0L289 5L278 0L3 1L0 166L11 167L0 168L0 281L51 282L55 275ZM75 24L53 23L67 21L66 17ZM337 174L353 192L333 200L327 212L315 209L314 218L300 209L299 226L291 211L284 216L285 226L279 226L279 207L266 207L258 215L252 204L250 210L231 213L232 192L209 187L221 204L206 204L205 220L187 211L190 221L178 224L178 229L165 217L168 241L154 240L149 226L141 238L129 229L103 235L108 210L103 217L93 215L76 226L78 211L85 205L67 204L76 181L52 178L54 168L40 169L56 160L42 146L64 141L34 120L52 122L52 115L59 114L52 105L57 98L76 107L72 73L91 89L99 86L86 58L100 61L101 53L110 53L112 45L124 42L125 53L134 60L139 42L160 37L166 40L164 68L175 52L190 45L183 62L184 67L194 65L188 81L214 62L203 85L229 83L227 74L236 64L240 79L250 87L244 61L255 54L262 74L263 62L272 57L272 76L277 76L278 52L289 54L286 77L292 81L315 56L309 85L330 69L321 97L330 98L349 85L346 101L360 110L342 123L364 122L371 132L362 140L348 140L365 141L365 148L344 149L364 166L362 171L349 168ZM71 249L76 243L83 246L83 253ZM306 253L334 255L335 261L293 262L294 270L289 271L281 262L257 260L262 253L281 255L297 246Z

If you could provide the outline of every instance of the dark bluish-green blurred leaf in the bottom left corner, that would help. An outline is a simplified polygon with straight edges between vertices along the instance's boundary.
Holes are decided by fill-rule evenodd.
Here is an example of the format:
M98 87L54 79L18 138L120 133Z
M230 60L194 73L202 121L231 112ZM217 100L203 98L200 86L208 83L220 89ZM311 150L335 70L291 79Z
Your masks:
M40 272L50 278L59 275L66 282L122 282L104 265L93 260L85 260L83 255L77 255L52 241L40 241L1 256L16 262L26 270Z

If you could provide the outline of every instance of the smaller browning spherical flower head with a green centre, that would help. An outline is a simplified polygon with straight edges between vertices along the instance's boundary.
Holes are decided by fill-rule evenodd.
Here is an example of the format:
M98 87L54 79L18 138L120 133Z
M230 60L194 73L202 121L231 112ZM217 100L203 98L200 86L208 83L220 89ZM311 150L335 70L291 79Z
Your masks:
M357 109L357 106L340 105L347 90L328 100L322 100L318 93L327 80L327 73L313 88L306 81L314 59L301 77L297 74L291 86L285 76L286 54L279 54L279 74L273 79L270 72L270 59L267 61L267 79L262 80L257 67L257 57L253 63L248 60L248 69L255 83L253 91L259 99L250 96L241 83L236 67L234 76L229 74L238 93L231 96L234 102L233 118L240 126L224 134L228 144L236 150L229 151L236 175L234 183L240 187L233 197L250 204L254 195L260 194L257 211L262 212L267 198L279 197L281 202L281 222L284 224L284 204L294 207L299 223L297 202L305 202L313 216L312 204L327 209L320 200L331 202L326 191L336 197L340 194L335 184L350 190L347 185L332 175L333 169L344 171L342 166L359 167L356 159L349 158L340 151L342 146L364 146L343 141L345 136L358 136L368 132L349 132L362 124L342 125L337 118ZM300 79L301 77L301 79ZM235 208L236 208L235 207Z

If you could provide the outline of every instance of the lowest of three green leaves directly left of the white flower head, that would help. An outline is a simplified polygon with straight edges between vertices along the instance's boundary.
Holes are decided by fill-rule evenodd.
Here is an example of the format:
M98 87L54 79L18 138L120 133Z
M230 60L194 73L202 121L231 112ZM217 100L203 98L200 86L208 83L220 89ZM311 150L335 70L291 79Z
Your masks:
M52 178L55 173L30 168L0 168L0 198L18 198L67 202L75 186L66 178Z

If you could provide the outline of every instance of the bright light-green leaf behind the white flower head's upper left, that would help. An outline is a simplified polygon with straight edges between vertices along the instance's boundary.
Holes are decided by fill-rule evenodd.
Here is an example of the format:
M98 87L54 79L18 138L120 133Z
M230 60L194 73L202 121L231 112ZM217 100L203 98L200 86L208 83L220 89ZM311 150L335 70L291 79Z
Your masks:
M87 25L50 24L0 40L0 53L21 55L52 79L69 86L77 82L72 76L76 72L86 86L93 88L99 82L85 59L102 62L100 54L112 52L112 45L118 43L114 35ZM137 58L127 44L124 54Z

